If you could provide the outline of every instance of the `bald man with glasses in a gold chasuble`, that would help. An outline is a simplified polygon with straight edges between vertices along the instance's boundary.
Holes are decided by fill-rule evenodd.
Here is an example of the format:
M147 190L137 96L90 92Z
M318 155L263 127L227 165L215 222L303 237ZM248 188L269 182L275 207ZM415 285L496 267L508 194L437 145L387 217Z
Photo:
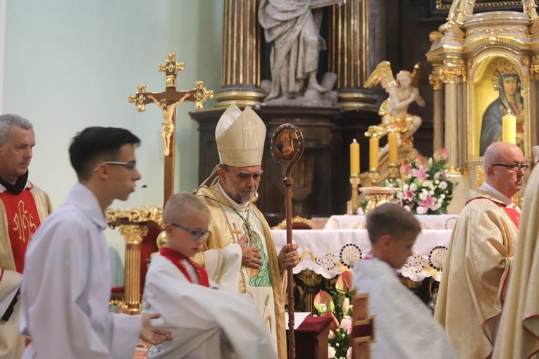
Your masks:
M513 197L528 164L519 146L495 142L485 151L483 169L485 182L468 191L454 226L434 313L459 358L492 352L519 230Z

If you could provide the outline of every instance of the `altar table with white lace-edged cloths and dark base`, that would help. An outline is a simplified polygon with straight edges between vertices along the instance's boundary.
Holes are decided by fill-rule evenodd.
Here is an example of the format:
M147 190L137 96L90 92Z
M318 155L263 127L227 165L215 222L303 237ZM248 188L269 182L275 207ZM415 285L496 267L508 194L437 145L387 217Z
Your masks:
M423 229L412 247L413 256L397 272L402 282L428 303L440 282L457 215L416 215L416 218ZM301 286L297 289L301 297L297 303L302 303L302 310L314 312L312 300L318 291L334 286L340 273L351 270L371 250L364 227L364 215L334 215L323 229L292 231L292 240L299 245L299 264L293 272L295 279L299 279L295 285ZM286 243L286 231L273 229L271 234L279 250Z

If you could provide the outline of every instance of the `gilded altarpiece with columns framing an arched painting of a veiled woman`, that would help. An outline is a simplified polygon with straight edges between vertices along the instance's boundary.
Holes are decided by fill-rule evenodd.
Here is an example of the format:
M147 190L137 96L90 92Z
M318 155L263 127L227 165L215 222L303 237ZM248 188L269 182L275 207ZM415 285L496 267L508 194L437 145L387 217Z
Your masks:
M516 115L516 141L527 160L538 139L535 1L522 1L522 12L473 13L473 7L474 1L453 1L447 23L430 34L432 46L426 54L433 65L435 120L439 118L443 129L435 132L434 143L448 149L451 175L461 183L453 206L464 206L465 190L483 182L482 152L488 143L501 140L502 115ZM514 79L513 89L502 84L506 77ZM506 90L512 106L507 105ZM500 130L496 127L495 135L483 133L497 121Z

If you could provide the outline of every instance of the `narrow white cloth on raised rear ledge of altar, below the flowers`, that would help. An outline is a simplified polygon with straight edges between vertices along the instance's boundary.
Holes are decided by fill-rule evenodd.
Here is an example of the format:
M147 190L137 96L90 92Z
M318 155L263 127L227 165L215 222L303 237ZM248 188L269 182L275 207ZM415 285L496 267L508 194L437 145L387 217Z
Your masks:
M323 229L364 229L364 215L332 215ZM423 229L453 229L459 215L416 215Z

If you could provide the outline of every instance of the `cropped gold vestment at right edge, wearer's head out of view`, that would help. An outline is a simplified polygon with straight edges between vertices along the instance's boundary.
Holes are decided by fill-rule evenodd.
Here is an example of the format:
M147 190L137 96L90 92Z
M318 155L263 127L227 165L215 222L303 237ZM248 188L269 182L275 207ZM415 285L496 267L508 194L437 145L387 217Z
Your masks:
M539 353L538 221L539 169L535 168L526 186L519 241L492 353L495 359L537 358Z

